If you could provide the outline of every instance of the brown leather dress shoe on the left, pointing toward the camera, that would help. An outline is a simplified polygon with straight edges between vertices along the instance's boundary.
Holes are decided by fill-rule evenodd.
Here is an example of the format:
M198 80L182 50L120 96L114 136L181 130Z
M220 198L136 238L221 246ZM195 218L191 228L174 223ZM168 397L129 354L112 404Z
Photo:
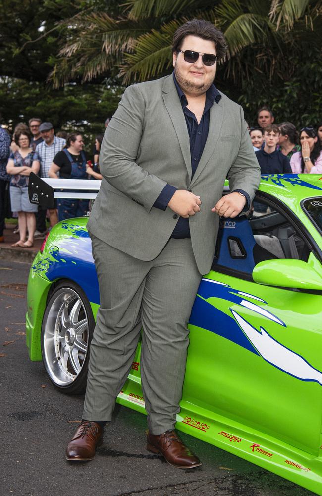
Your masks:
M95 450L102 442L102 427L96 422L82 422L67 445L66 460L76 462L93 460Z

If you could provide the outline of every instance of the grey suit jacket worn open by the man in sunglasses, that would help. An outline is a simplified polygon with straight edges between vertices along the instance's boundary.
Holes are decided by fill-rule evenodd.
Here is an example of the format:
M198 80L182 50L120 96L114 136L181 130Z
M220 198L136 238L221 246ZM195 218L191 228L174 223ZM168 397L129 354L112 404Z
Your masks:
M243 110L223 94L210 110L207 142L191 179L189 135L172 75L125 90L105 131L100 169L104 179L88 230L141 260L161 252L178 221L169 207L153 207L166 183L201 197L201 211L189 218L201 274L212 264L219 217L211 208L225 179L251 200L260 181Z

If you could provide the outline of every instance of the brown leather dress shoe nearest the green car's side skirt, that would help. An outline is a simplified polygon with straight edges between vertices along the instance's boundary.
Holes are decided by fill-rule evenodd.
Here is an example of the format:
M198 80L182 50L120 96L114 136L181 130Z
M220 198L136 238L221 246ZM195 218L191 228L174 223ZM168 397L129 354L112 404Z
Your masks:
M160 435L148 433L147 450L160 453L170 465L176 468L195 468L202 464L183 444L175 431L166 431Z

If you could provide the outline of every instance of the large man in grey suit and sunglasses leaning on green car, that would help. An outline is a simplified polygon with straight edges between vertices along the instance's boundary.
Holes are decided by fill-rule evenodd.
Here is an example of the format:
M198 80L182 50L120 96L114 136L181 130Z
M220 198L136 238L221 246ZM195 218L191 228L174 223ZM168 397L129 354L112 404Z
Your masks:
M174 73L127 88L105 131L104 179L88 222L101 306L68 460L94 458L142 327L147 448L178 468L201 465L174 431L187 323L219 217L249 208L260 181L243 110L213 84L225 51L210 22L187 22L174 34ZM226 177L231 193L222 196Z

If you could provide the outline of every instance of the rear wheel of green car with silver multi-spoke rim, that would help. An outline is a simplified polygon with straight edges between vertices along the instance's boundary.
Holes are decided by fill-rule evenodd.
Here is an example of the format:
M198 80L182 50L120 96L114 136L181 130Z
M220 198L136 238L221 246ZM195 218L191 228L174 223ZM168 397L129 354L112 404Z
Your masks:
M45 370L59 391L85 391L94 327L84 291L72 281L60 281L48 299L41 331Z

